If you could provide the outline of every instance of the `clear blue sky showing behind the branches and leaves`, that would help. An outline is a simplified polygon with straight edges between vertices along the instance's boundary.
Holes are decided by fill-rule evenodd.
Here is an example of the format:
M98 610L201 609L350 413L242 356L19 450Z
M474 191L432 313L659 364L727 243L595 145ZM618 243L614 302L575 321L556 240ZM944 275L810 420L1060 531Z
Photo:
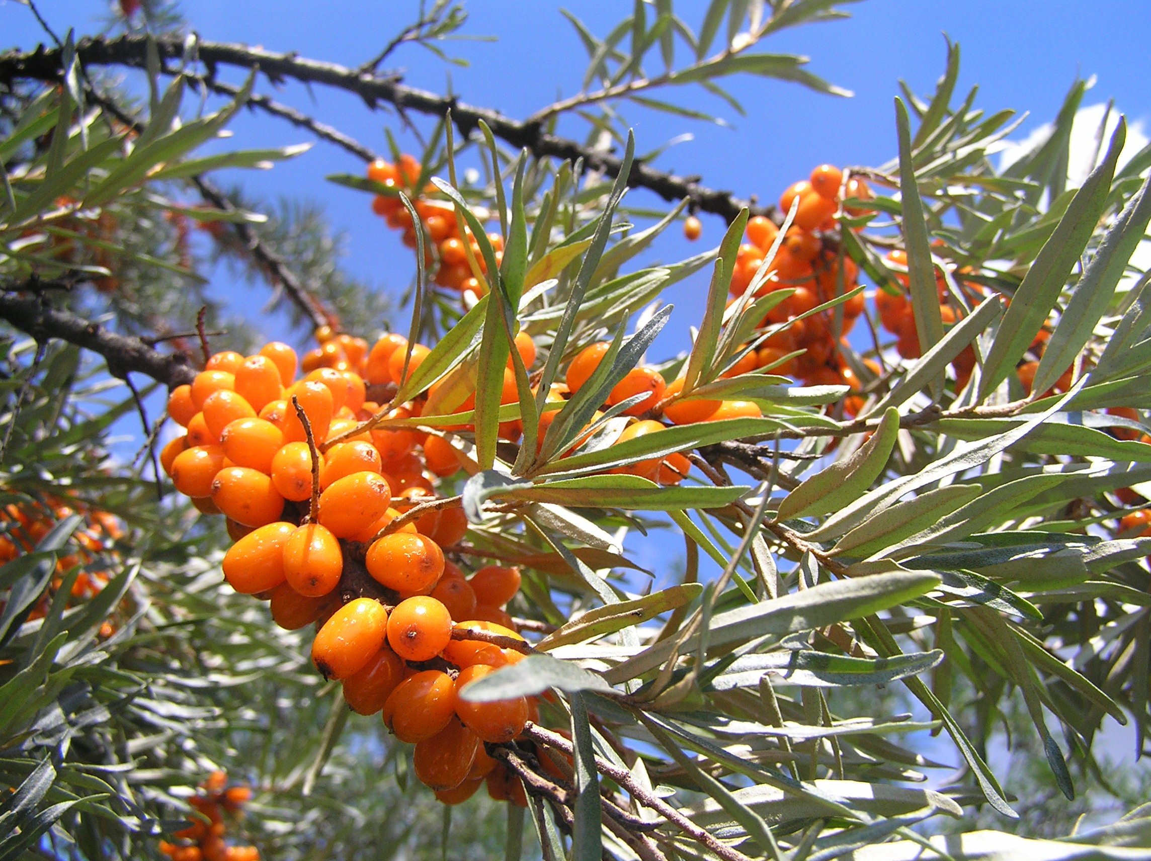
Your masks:
M630 8L625 2L567 0L563 3L593 32L605 33ZM41 0L45 17L59 31L69 25L92 32L107 20L109 3L101 0ZM206 39L237 40L268 49L295 49L306 56L356 66L375 54L391 36L416 16L409 0L196 0L182 8ZM497 41L462 41L447 47L470 61L467 68L445 66L420 47L402 48L390 63L414 86L443 90L450 76L459 97L524 117L557 96L579 87L586 55L571 25L551 0L487 0L468 5L465 31L498 37ZM676 3L678 14L698 28L706 3ZM699 109L717 112L733 128L632 108L639 151L651 150L683 132L694 138L665 153L658 165L681 174L699 174L712 188L773 200L791 182L805 177L823 161L837 165L878 165L894 151L892 97L898 81L917 92L928 91L943 69L943 33L959 41L963 52L960 91L980 84L977 105L988 111L1005 107L1030 112L1019 136L1053 116L1076 75L1098 76L1084 104L1115 100L1129 121L1151 117L1151 14L1145 0L864 0L848 3L845 21L800 28L772 37L765 51L805 54L810 69L852 90L851 99L821 96L798 85L757 78L737 78L730 89L746 116L691 89L671 96ZM2 43L30 46L43 38L29 9L15 0L0 0ZM233 79L238 74L230 73ZM260 89L267 91L267 86ZM369 113L353 97L329 90L307 92L287 85L284 101L314 113L368 146L386 151L382 128L396 127L394 115ZM284 145L306 140L304 132L264 116L243 116L234 124L231 147ZM578 123L569 127L578 135ZM349 268L380 289L398 292L411 276L411 256L382 221L369 215L359 192L334 186L323 176L359 173L352 157L320 144L304 157L270 172L244 172L241 180L258 195L305 196L321 201L337 228L348 231ZM648 196L649 198L650 196ZM642 193L637 205L649 201ZM704 241L718 239L722 226L704 220ZM670 231L653 257L673 260L699 249ZM702 243L701 243L702 245ZM257 311L266 298L260 288L235 291L227 273L214 274L214 289L242 307ZM706 284L688 281L669 291L679 312L662 336L665 352L685 342L689 322L698 319ZM267 334L281 336L274 320Z

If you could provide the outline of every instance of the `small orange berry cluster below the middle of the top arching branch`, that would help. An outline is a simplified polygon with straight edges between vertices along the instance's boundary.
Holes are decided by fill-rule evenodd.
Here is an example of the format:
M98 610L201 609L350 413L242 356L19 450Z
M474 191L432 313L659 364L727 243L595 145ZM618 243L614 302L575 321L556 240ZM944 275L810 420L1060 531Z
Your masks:
M427 239L425 244L425 265L435 267L435 283L462 294L472 294L479 298L487 291L483 280L478 277L468 261L471 259L480 274L487 272L487 261L480 253L471 229L465 226L463 235L456 221L455 206L448 200L435 199L439 193L435 185L428 184L417 189L420 178L420 162L412 155L404 154L397 163L379 159L367 167L367 178L387 185L389 189L403 190L412 200L416 214L420 218L420 227ZM388 227L403 230L403 243L417 247L416 224L412 215L398 196L376 195L372 200L372 211L382 216ZM496 264L503 259L503 236L489 233L488 242L495 251Z

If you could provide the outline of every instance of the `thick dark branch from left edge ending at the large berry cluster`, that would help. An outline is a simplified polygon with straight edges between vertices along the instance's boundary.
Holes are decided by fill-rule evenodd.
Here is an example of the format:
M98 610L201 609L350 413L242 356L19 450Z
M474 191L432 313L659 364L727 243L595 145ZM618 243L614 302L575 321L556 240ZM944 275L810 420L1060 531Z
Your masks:
M16 295L24 289L23 283L3 287L0 319L33 338L59 338L99 353L108 373L121 380L135 371L174 389L196 379L196 369L185 355L160 352L144 338L117 335L68 311L49 307L35 296Z

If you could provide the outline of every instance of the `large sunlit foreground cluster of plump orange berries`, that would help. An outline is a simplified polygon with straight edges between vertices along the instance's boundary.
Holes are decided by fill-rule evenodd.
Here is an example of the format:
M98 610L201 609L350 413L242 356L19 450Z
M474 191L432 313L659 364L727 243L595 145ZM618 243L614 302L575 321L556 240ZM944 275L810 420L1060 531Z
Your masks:
M458 506L429 506L388 531L402 511L434 500L426 473L451 475L459 460L433 434L356 433L380 412L365 399L368 386L395 383L403 373L405 338L386 335L357 350L359 340L321 335L321 350L336 344L341 352L318 357L325 364L299 381L296 353L282 343L249 357L212 356L169 396L169 416L186 433L165 448L161 463L200 511L227 517L235 541L223 558L228 582L267 600L284 628L317 624L317 669L343 681L356 711L382 713L397 738L416 744L417 776L442 800L463 801L483 779L496 798L521 797L518 778L481 742L514 739L536 717L535 703L456 695L524 656L503 609L519 589L519 571L487 566L466 578L444 558L443 548L467 528ZM416 346L410 371L427 355ZM412 402L388 416L420 409Z

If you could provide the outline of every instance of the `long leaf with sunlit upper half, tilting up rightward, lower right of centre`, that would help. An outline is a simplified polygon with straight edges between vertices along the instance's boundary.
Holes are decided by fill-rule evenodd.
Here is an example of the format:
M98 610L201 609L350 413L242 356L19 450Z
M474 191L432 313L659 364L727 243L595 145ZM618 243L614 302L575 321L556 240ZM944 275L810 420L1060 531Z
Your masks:
M746 642L764 634L790 634L810 631L837 622L869 616L889 607L918 597L939 584L939 576L928 571L902 571L892 565L883 573L871 573L852 580L816 584L809 589L783 597L761 601L711 617L708 642L711 647ZM694 649L692 637L680 647ZM604 673L611 684L642 676L660 666L676 645L663 640Z

